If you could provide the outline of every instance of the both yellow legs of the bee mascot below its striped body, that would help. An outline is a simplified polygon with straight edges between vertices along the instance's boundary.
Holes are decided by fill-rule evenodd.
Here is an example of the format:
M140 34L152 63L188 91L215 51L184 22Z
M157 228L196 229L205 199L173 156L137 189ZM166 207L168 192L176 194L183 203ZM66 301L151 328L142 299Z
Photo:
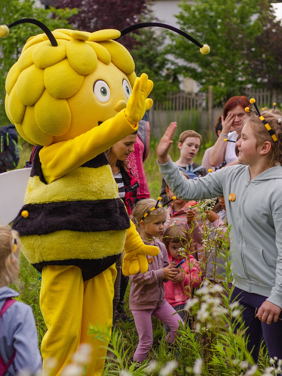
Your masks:
M88 335L89 323L112 327L115 264L83 283L81 270L75 266L47 266L42 270L40 308L47 333L42 340L43 369L46 359L57 361L50 376L59 375L81 343L92 346L86 376L100 376L105 363L105 343ZM101 359L102 358L102 359Z

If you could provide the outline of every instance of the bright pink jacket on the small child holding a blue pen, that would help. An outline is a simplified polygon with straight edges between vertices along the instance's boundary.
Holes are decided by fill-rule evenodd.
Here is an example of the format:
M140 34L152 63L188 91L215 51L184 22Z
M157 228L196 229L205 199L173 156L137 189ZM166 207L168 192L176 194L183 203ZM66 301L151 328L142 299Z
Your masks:
M178 264L179 260L175 260L170 253L168 253L168 260L174 261ZM169 280L165 283L165 300L170 303L171 306L185 304L188 299L191 298L192 289L199 287L201 284L200 268L198 261L192 256L188 255L186 261L180 266L184 274L183 282L176 284Z

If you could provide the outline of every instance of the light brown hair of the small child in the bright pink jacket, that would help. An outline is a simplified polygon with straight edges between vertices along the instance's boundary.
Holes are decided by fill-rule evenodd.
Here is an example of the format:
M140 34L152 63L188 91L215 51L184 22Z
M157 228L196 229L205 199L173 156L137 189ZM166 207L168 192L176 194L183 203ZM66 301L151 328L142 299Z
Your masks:
M168 243L181 243L185 252L189 250L189 253L196 252L196 241L194 241L188 231L181 224L175 224L169 226L165 232L164 237L162 238L162 243L164 243L165 248L168 251ZM188 249L189 248L189 249Z

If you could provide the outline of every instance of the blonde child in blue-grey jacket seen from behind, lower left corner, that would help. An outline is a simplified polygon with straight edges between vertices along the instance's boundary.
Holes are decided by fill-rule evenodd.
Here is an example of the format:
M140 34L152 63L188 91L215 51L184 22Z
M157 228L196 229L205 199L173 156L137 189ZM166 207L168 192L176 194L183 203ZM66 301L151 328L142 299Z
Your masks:
M15 376L19 371L37 374L41 371L41 355L32 309L14 300L19 294L7 286L18 277L20 238L3 225L0 259L0 375Z

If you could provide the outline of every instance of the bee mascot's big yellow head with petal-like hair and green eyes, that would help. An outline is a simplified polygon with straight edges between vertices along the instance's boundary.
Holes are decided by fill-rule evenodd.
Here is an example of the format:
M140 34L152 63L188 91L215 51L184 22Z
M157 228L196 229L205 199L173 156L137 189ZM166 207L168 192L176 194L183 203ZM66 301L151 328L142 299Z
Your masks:
M72 139L126 107L134 62L118 30L57 29L32 36L6 79L6 113L35 145Z

